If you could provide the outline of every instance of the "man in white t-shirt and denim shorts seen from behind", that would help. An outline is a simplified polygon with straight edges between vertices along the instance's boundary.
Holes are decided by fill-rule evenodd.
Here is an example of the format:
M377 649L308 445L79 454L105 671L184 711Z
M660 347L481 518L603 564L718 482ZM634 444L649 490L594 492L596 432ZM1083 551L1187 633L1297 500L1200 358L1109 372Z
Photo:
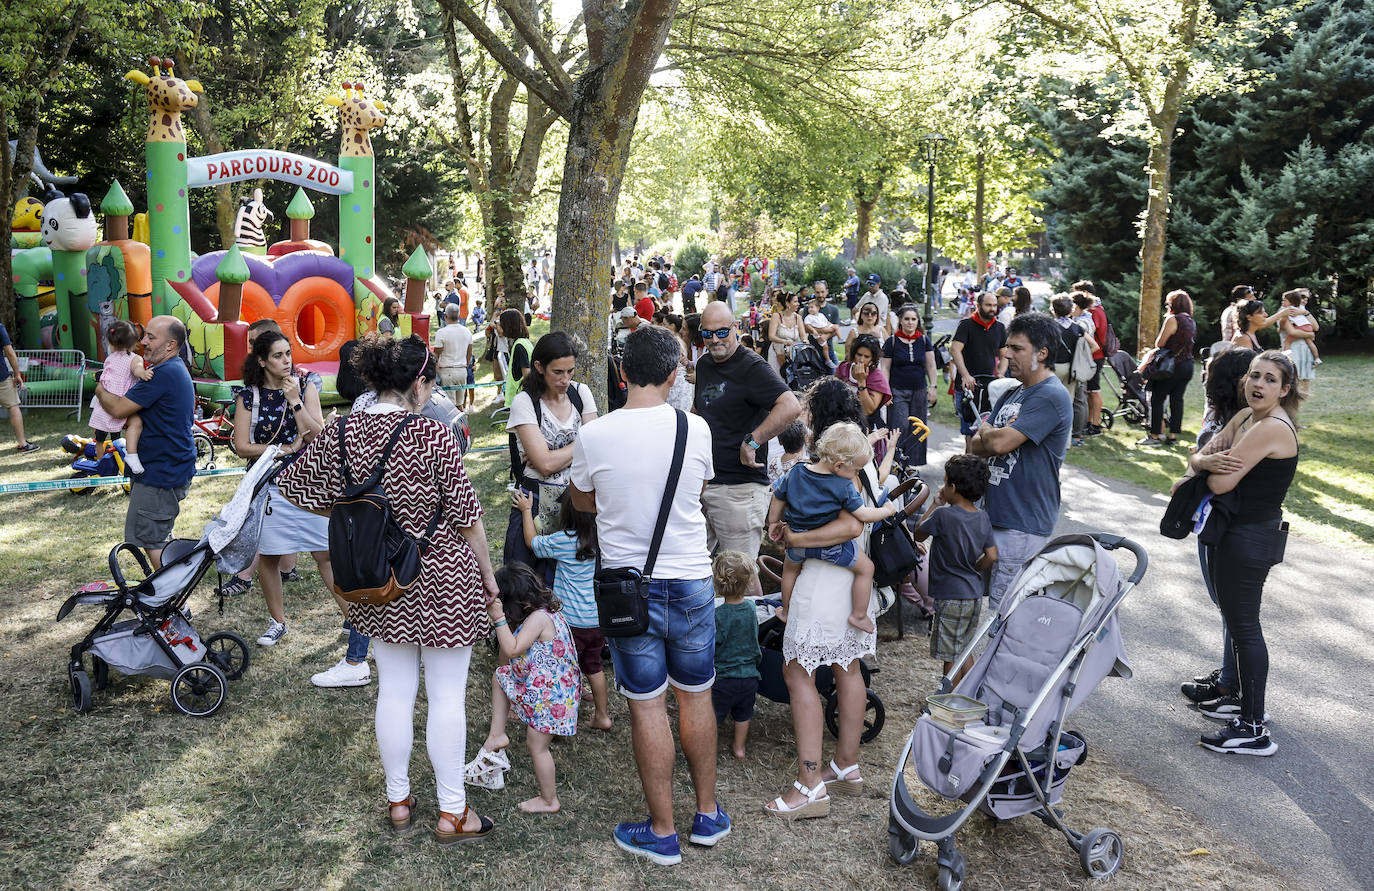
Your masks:
M600 565L643 571L658 520L660 492L671 503L649 583L649 630L610 638L616 683L629 700L629 722L649 820L616 826L616 846L661 866L682 862L673 825L673 749L668 688L677 697L683 754L697 793L694 844L730 835L716 800L716 590L706 550L701 492L714 473L710 428L687 415L687 447L676 491L664 492L677 441L668 390L680 346L668 329L642 326L625 338L625 407L583 426L573 444L567 488L578 510L596 513ZM627 455L632 458L627 459Z

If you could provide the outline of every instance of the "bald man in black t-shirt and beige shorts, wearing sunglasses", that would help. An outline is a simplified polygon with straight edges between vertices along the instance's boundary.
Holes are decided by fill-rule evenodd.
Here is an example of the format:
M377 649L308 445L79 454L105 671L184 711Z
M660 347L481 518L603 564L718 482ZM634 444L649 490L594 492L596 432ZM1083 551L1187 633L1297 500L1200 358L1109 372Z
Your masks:
M706 484L701 509L712 551L758 556L768 514L767 443L801 414L801 403L782 378L752 349L739 348L735 318L723 302L701 315L706 355L697 360L692 408L710 428L716 476Z

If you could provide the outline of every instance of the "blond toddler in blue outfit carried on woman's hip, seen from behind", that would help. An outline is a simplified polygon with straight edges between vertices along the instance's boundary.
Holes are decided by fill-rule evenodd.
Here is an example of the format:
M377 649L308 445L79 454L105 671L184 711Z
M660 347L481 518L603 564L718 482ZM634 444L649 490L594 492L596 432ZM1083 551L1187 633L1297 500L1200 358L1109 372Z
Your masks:
M794 532L819 529L848 510L860 522L877 522L897 513L897 505L866 507L859 494L859 473L872 461L872 446L855 424L834 424L816 443L816 461L797 463L774 484L768 506L768 538L780 542L783 525ZM857 542L830 547L789 547L782 568L782 616L786 620L791 588L807 560L823 560L855 573L851 588L849 624L871 634L868 600L872 597L872 561Z

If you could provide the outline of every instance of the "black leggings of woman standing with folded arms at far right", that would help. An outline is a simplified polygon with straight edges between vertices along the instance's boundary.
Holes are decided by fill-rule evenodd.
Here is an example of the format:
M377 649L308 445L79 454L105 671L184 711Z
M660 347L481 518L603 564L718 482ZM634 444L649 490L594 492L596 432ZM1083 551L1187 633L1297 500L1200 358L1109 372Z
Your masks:
M1264 722L1264 688L1270 676L1270 649L1260 630L1260 597L1270 575L1274 522L1232 525L1209 549L1212 584L1221 608L1241 675L1241 719Z

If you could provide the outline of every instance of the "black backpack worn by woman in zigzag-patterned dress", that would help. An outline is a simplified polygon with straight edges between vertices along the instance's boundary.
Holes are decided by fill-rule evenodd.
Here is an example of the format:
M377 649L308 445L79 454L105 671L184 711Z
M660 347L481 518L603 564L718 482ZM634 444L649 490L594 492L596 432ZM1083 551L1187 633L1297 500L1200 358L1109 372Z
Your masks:
M339 469L344 492L330 510L330 564L334 566L334 593L350 604L381 605L405 594L420 579L420 557L444 516L444 505L434 512L425 536L414 539L396 522L392 503L382 487L392 447L415 415L407 414L386 441L376 470L354 483L344 447L348 417L339 421Z

